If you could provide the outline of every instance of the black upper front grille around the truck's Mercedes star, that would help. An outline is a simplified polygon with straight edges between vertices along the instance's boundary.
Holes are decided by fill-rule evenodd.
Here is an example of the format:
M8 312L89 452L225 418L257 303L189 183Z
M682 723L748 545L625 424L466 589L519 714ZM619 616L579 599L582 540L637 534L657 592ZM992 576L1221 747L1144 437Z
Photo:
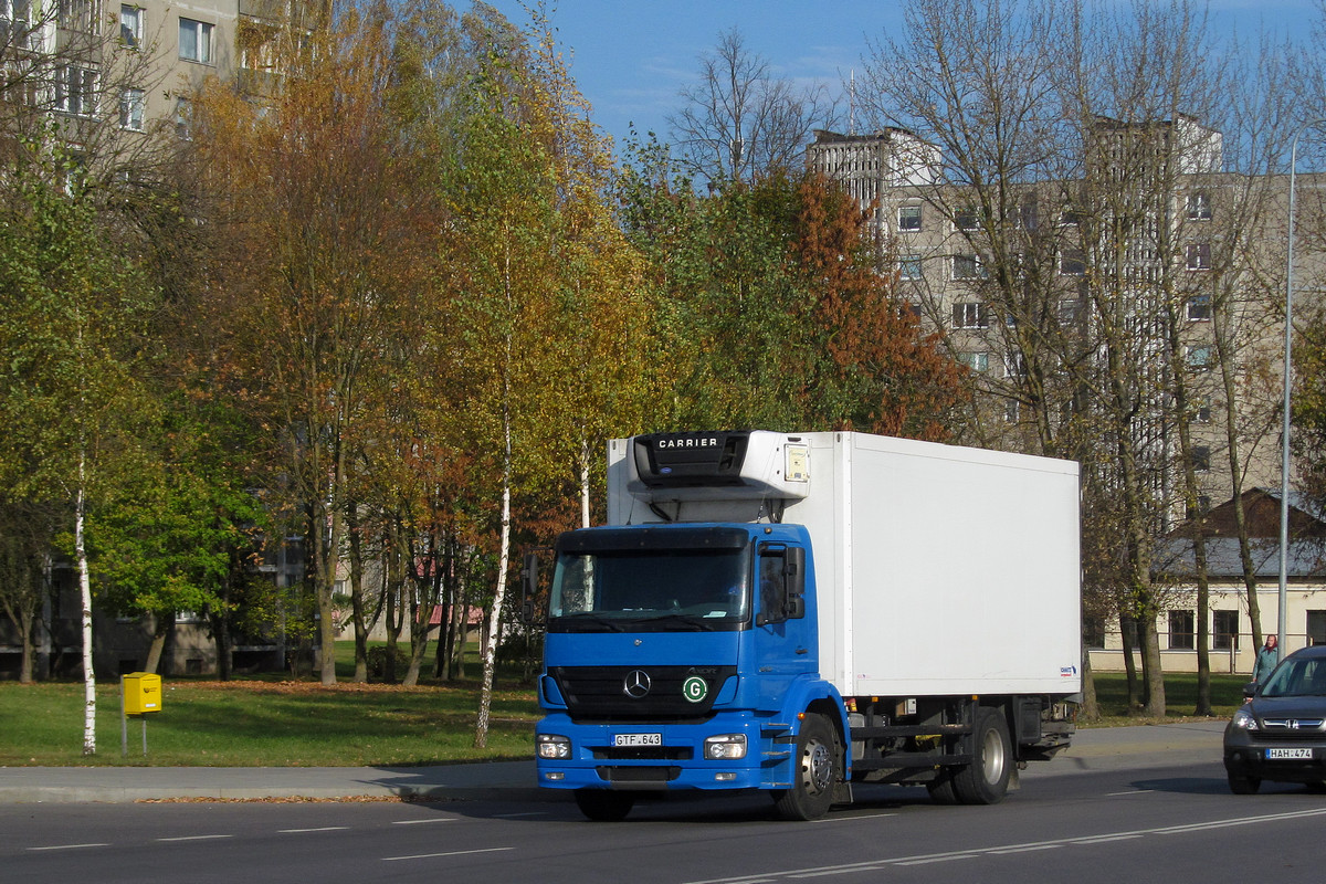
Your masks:
M626 693L626 680L644 673L648 692ZM548 673L566 700L573 721L703 721L724 683L736 677L736 667L550 667ZM701 679L704 696L690 700L683 693L687 681ZM639 679L636 679L638 681Z

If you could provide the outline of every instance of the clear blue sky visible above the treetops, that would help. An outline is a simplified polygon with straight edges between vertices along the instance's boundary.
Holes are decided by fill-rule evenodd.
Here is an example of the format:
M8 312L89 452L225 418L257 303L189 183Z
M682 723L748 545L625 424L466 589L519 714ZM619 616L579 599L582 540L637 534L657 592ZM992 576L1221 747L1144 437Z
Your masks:
M488 3L528 23L521 0ZM776 76L838 85L861 69L867 34L898 38L903 20L898 0L561 0L548 8L594 122L618 140L631 122L667 140L678 90L732 27ZM1209 9L1215 29L1244 37L1261 28L1303 36L1318 20L1317 0L1215 0Z

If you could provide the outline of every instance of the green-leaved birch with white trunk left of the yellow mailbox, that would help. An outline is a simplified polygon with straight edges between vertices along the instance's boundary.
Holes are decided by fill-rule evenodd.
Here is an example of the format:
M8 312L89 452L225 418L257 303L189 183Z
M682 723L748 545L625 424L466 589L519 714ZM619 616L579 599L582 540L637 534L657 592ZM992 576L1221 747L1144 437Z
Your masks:
M9 502L61 513L82 595L84 751L95 751L91 586L85 525L151 463L143 427L147 319L155 292L126 257L80 180L80 166L46 133L33 140L0 204L0 474ZM131 252L130 252L131 254ZM48 510L50 512L50 510ZM49 538L53 541L53 538ZM30 602L29 602L30 603Z

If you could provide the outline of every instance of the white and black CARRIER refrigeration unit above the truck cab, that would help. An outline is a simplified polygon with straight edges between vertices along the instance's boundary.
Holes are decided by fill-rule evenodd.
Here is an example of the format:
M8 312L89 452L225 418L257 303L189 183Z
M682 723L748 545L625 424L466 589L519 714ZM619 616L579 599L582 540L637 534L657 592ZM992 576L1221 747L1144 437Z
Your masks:
M627 490L640 500L800 500L810 493L810 445L761 429L634 436Z

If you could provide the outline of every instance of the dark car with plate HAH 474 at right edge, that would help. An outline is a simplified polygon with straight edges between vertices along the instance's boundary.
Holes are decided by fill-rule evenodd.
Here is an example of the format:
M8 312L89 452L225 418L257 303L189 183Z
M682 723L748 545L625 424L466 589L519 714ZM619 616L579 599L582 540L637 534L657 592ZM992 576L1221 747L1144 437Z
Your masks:
M1225 773L1236 795L1261 781L1326 786L1326 645L1296 651L1225 728Z

